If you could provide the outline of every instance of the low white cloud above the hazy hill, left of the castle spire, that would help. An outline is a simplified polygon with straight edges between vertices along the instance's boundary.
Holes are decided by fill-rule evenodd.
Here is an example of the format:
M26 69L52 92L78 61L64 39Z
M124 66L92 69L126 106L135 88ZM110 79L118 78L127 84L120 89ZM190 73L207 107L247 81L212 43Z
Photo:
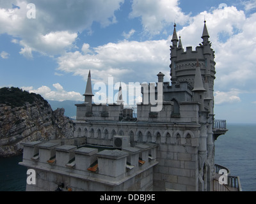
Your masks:
M34 89L33 87L21 87L21 89L35 92L36 94L40 94L44 99L54 100L54 101L65 101L65 100L73 100L73 101L83 101L83 96L79 92L74 91L65 91L63 87L59 84L52 84L52 86L56 89L52 91L51 88L43 85L38 89Z

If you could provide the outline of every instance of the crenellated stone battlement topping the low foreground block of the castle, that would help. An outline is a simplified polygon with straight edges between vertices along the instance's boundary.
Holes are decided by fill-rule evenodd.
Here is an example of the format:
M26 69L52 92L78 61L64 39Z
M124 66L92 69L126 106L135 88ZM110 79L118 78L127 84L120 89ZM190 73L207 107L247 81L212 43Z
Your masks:
M68 175L74 179L82 179L84 182L96 182L97 185L102 186L106 184L113 187L120 186L158 163L156 160L158 145L153 143L103 150L102 147L100 150L98 147L77 148L75 145L60 145L56 142L28 142L23 145L24 156L20 163L23 166L38 172ZM58 183L58 179L46 180L54 184ZM67 186L77 187L70 183ZM47 186L44 188L47 191L53 190ZM83 190L93 189L87 185Z

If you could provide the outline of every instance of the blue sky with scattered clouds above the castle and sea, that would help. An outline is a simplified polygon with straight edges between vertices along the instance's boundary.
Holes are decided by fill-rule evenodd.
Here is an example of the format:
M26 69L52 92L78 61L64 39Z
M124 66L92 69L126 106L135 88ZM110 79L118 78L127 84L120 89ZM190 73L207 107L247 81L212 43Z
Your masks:
M204 20L215 119L256 123L255 0L0 0L0 87L83 101L89 70L95 97L111 98L99 89L109 78L116 92L120 82L157 82L159 71L170 82L174 22L195 50Z

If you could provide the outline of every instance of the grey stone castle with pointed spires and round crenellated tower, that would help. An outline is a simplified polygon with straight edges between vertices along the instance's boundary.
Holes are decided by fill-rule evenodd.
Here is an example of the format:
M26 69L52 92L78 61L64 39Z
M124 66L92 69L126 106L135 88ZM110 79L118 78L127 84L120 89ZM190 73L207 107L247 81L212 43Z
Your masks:
M20 164L36 171L26 190L213 191L214 141L227 129L214 120L216 63L205 23L202 40L184 51L174 25L172 84L161 72L156 86L141 84L136 117L121 87L116 103L95 105L89 73L75 137L24 143Z

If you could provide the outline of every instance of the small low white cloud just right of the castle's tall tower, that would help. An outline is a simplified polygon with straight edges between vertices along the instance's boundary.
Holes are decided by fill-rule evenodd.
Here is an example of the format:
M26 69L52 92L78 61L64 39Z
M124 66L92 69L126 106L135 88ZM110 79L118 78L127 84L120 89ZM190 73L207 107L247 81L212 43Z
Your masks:
M214 103L216 105L221 105L224 103L240 102L241 99L238 96L239 94L240 94L240 92L236 89L233 89L229 92L216 91L216 92L214 92Z

